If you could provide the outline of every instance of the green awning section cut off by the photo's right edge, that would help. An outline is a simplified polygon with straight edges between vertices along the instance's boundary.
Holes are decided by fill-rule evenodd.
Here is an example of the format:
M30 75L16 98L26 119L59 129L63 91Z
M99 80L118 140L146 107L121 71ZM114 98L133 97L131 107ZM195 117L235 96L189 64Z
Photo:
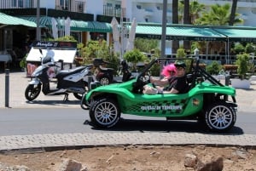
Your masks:
M228 37L231 42L256 42L256 28L232 27L216 28L214 30Z

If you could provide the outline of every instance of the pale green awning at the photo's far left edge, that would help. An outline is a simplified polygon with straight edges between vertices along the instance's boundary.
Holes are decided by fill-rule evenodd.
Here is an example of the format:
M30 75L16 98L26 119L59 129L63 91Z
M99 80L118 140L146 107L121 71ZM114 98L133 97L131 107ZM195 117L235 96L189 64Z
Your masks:
M29 20L23 20L18 17L14 17L8 14L0 13L0 25L22 25L22 26L30 26L37 27L35 22Z

